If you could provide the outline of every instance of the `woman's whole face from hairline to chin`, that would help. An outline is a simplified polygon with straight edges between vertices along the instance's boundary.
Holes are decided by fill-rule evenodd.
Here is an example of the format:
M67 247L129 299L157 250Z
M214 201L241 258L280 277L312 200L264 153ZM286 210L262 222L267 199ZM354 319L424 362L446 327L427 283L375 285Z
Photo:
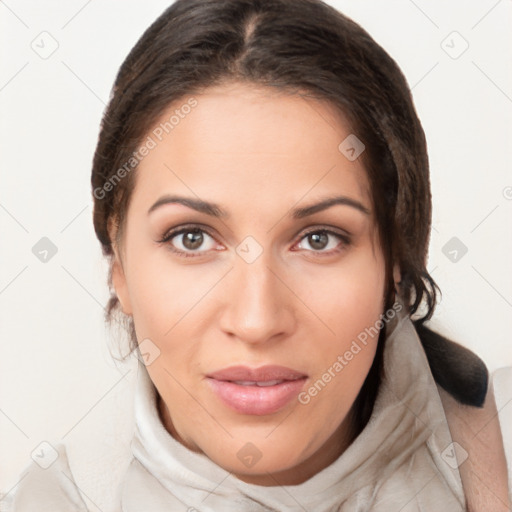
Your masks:
M300 483L352 440L375 355L369 183L325 103L237 83L194 98L145 141L114 286L169 432L247 482Z

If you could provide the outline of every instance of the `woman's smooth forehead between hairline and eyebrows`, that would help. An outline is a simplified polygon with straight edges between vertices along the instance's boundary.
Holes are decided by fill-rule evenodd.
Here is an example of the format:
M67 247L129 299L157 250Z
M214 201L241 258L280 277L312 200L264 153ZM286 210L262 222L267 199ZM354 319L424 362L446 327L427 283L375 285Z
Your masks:
M343 151L349 136L326 102L238 83L210 88L155 123L134 194L186 192L247 210L343 193L370 209L361 159Z

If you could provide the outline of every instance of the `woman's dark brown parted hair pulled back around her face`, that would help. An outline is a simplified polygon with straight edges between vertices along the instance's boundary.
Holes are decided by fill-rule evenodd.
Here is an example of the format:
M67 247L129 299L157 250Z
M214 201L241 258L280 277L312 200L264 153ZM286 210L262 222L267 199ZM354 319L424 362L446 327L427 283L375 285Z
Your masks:
M94 228L103 253L113 255L110 225L121 239L136 169L105 184L171 103L226 81L326 100L348 119L366 147L361 158L386 258L386 307L398 264L398 291L410 314L425 304L420 322L430 318L429 168L409 87L366 31L319 0L177 0L146 30L119 70L94 155ZM108 318L117 306L112 294ZM361 396L375 396L382 345Z

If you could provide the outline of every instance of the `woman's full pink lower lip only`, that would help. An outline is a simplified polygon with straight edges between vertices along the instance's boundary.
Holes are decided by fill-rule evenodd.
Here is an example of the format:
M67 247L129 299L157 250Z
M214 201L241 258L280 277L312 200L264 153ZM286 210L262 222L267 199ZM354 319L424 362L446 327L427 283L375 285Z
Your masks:
M279 411L300 393L306 377L284 381L275 386L241 386L225 380L208 378L213 392L241 414L263 416Z

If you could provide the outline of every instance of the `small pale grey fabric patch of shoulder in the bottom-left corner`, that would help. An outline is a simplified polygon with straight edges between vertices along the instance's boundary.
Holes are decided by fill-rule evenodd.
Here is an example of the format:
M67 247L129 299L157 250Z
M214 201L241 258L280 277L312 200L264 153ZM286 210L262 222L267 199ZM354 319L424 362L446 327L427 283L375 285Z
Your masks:
M40 451L34 454L34 461L20 475L14 498L7 508L8 512L42 510L87 512L62 443L41 445Z

